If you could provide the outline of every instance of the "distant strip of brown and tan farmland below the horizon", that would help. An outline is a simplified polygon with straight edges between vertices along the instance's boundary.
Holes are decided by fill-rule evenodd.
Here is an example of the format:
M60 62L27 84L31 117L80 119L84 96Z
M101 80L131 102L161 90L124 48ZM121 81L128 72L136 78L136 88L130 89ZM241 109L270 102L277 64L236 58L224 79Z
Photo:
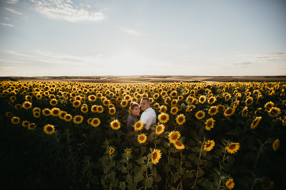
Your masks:
M91 83L146 83L146 82L236 82L236 81L251 81L251 82L285 82L286 77L139 77L139 76L103 76L101 79L52 79L48 77L36 77L34 79L19 79L18 81L79 81L79 82L91 82Z

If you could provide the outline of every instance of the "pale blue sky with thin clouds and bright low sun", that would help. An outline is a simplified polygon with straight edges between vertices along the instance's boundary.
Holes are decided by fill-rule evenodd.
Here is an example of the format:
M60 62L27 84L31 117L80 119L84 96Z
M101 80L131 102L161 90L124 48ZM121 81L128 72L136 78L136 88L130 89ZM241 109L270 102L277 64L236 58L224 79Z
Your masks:
M0 0L0 76L286 75L285 0Z

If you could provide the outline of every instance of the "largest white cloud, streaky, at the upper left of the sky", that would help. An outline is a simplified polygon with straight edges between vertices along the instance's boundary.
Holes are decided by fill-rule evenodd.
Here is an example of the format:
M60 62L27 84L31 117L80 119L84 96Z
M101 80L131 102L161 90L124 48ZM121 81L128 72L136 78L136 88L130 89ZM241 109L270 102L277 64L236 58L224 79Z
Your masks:
M102 12L89 12L84 8L75 9L69 5L70 1L49 1L49 0L29 0L33 5L33 9L45 15L49 19L66 20L69 22L78 21L101 21L105 16Z

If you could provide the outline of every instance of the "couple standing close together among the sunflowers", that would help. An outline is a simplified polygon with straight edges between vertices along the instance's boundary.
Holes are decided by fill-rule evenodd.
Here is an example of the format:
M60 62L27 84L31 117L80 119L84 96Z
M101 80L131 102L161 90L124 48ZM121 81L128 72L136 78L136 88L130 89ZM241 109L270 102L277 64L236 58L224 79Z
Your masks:
M143 128L140 132L142 133L149 133L151 132L150 126L154 123L156 123L156 113L155 111L150 108L150 100L147 97L144 97L141 99L141 109L144 111L141 114L140 121L143 122ZM140 105L135 102L130 103L130 115L128 115L126 119L126 127L128 131L134 131L134 124L138 122L137 116L140 113ZM134 136L134 133L132 133L130 136L125 136L125 139L128 140Z

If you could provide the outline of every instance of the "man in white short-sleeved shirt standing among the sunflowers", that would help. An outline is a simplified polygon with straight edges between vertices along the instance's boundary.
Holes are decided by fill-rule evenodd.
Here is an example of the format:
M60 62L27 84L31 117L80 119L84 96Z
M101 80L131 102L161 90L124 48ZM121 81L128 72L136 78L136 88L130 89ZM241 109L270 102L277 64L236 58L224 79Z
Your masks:
M150 100L147 97L141 99L140 106L144 111L140 117L140 121L143 122L143 133L149 133L150 126L156 123L156 113L150 108Z

